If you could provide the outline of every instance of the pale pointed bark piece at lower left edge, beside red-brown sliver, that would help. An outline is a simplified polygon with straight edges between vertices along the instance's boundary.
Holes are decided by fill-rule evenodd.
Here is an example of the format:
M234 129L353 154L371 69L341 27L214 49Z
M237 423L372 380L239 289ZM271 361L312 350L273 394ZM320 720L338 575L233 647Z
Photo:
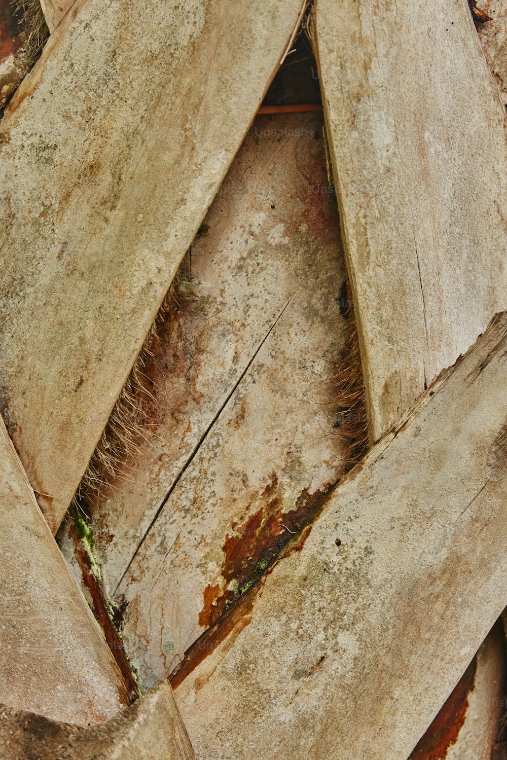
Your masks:
M128 694L0 419L0 702L55 720L106 720Z

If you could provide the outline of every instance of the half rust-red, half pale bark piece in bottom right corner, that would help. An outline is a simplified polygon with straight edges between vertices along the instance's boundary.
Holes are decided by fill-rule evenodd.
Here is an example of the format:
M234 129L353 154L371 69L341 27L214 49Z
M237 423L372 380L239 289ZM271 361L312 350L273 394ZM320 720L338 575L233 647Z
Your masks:
M497 620L410 760L491 760L505 713L506 674L505 634Z

